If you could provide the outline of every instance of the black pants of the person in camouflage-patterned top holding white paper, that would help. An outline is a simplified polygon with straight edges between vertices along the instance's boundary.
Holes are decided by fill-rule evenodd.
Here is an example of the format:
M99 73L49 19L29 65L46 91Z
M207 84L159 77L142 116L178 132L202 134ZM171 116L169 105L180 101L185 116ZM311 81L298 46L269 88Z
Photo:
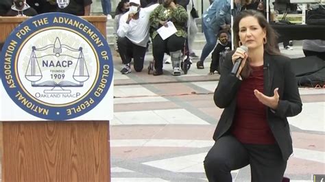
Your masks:
M163 70L164 54L182 50L185 38L178 37L175 34L163 40L160 35L152 40L152 53L154 54L154 68L156 70Z

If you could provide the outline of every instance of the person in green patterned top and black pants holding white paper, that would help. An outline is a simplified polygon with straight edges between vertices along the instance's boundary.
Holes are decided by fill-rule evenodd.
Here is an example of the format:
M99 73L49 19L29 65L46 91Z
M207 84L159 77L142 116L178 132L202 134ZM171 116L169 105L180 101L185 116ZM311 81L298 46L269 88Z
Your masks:
M163 75L164 53L171 55L173 75L180 75L180 55L186 39L187 12L182 5L176 4L176 0L164 0L163 4L150 15L149 21L152 36L152 52L154 54L154 76ZM165 27L163 27L165 26ZM163 29L167 31L162 31ZM165 38L168 30L176 33ZM160 34L158 34L160 29Z

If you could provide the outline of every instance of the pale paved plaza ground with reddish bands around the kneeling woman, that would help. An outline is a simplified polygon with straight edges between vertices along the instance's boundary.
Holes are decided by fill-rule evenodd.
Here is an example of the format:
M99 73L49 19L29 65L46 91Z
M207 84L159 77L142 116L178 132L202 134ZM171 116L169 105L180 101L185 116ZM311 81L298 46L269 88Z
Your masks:
M200 55L200 50L196 50ZM302 47L282 50L303 57ZM213 146L212 135L222 109L215 106L213 92L219 75L197 70L173 77L147 74L152 55L145 57L141 73L121 75L120 57L115 63L115 118L110 121L112 181L207 181L203 160ZM312 181L325 174L325 89L300 88L302 113L289 118L293 155L285 176L293 182ZM232 171L233 181L250 181L249 166Z

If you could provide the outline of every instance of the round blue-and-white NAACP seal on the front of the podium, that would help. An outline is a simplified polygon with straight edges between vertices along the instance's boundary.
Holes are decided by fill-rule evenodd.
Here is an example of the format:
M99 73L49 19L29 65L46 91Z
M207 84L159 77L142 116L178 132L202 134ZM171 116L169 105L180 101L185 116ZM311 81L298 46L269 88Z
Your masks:
M105 38L70 14L28 19L6 40L1 60L10 98L29 114L49 120L90 111L112 82L112 55Z

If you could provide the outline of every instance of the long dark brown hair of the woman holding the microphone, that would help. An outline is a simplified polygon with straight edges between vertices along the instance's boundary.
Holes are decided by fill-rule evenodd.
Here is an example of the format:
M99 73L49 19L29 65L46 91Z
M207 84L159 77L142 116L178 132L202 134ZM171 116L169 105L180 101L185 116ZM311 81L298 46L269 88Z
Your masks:
M256 10L245 10L238 14L234 18L234 25L233 25L233 31L234 31L234 47L239 47L239 22L241 19L253 16L257 19L258 24L263 28L266 29L266 39L267 42L264 44L264 51L269 53L270 55L280 55L280 51L278 49L278 35L276 34L276 31L269 25L269 23L266 21L266 18L261 12L257 12Z

